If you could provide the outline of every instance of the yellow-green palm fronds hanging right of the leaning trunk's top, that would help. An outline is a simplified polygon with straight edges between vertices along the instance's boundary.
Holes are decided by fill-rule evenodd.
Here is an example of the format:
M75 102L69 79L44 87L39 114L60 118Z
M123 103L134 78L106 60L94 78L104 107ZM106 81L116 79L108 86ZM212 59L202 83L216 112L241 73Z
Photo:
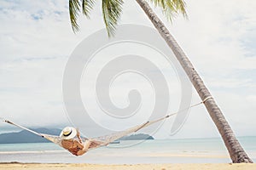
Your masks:
M172 22L172 19L176 17L177 14L181 13L184 17L187 17L185 10L186 4L183 0L150 0L155 7L162 10L163 14L166 16L167 20Z

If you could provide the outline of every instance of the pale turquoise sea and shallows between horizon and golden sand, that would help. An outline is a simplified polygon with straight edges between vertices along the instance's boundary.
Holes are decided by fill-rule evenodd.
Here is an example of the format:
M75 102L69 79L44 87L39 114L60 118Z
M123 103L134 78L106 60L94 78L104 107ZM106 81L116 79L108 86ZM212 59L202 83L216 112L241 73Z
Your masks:
M247 155L256 162L256 137L240 137ZM32 163L230 163L222 139L121 140L73 156L53 143L0 144L0 162Z

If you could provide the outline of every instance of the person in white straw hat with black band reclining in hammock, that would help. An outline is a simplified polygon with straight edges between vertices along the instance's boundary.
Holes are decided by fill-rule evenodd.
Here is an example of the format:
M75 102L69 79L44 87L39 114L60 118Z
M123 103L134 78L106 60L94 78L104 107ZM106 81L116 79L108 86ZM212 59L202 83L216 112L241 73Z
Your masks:
M82 156L90 148L91 141L85 140L83 143L79 129L74 127L65 127L60 134L61 145L75 156ZM78 137L78 139L75 139Z

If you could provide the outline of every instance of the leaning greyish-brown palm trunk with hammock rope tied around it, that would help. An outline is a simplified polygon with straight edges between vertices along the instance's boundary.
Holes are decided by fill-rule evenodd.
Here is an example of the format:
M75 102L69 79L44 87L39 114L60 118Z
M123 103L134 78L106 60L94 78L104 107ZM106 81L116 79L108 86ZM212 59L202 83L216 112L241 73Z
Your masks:
M150 8L145 0L136 1L148 15L149 20L151 20L151 22L154 24L157 31L160 32L161 37L163 37L169 47L172 48L173 53L177 57L179 63L183 66L184 71L187 73L201 99L204 100L211 97L212 95L208 91L201 77L195 71L194 66L191 64L186 54L184 54L182 48L179 47L176 40L172 37L171 33L167 30L163 22L156 14L154 14L154 11L152 8ZM231 130L229 123L225 120L223 113L218 108L218 105L215 103L214 99L208 98L207 101L204 102L204 105L207 107L207 111L212 117L212 121L218 128L218 132L221 134L224 144L229 150L231 160L234 163L252 163L253 161L247 156L245 150L242 149L241 144L236 139L236 136Z

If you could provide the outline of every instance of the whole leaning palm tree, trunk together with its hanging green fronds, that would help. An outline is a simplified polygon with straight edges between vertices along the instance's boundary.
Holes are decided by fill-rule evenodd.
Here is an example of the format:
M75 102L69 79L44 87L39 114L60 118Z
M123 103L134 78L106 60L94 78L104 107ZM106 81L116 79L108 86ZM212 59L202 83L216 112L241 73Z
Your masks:
M212 121L218 128L218 132L221 134L224 144L230 153L230 158L234 163L247 162L252 163L253 161L247 156L245 150L242 149L241 144L236 139L235 134L230 128L229 123L225 120L223 113L220 111L218 105L215 103L212 95L208 91L201 77L195 71L194 66L189 61L183 49L177 44L177 41L172 37L171 33L167 30L164 23L154 13L153 9L150 8L146 0L136 0L137 3L143 8L145 14L148 15L149 20L153 23L154 27L159 31L161 37L163 37L173 53L177 57L179 63L183 66L184 71L187 73L189 80L194 85L197 93L201 97L204 105L207 108ZM154 6L162 9L163 14L167 19L172 20L176 14L183 14L186 17L185 3L183 0L150 0L154 3ZM102 14L103 19L108 31L108 36L114 35L116 26L120 19L122 12L123 0L102 0ZM93 9L95 0L69 0L69 14L72 24L73 31L79 31L79 24L77 19L79 13L82 12L87 18L89 18L90 10Z

